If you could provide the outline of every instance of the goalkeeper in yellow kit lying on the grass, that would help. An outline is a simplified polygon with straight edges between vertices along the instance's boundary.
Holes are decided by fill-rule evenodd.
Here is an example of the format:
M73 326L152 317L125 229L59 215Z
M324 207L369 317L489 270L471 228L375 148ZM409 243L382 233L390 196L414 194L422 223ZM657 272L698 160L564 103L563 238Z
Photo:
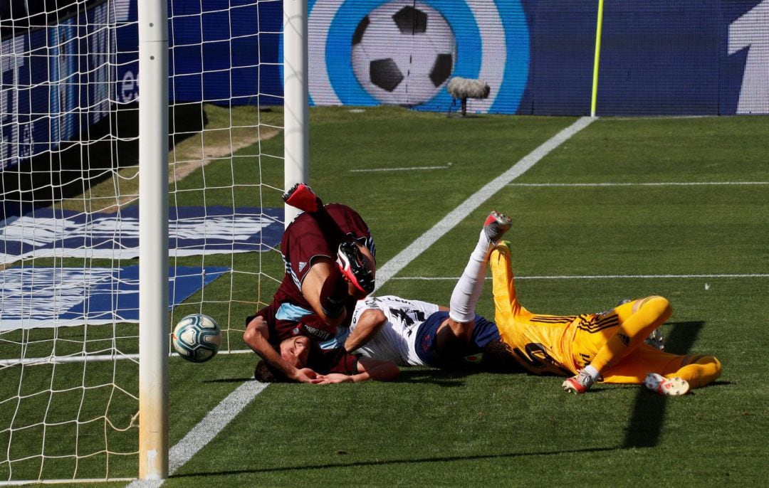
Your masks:
M721 375L713 356L665 353L649 335L671 316L663 297L629 301L599 314L534 314L515 294L508 242L491 251L495 321L508 353L529 373L569 376L564 390L584 393L594 383L644 383L665 395L683 395Z

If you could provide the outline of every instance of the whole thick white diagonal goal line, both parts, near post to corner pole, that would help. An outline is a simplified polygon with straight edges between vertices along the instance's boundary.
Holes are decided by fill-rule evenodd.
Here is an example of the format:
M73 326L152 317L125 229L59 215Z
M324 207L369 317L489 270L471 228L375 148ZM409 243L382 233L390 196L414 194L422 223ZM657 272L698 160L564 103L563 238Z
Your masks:
M571 124L568 128L558 132L552 138L545 141L544 144L534 149L531 153L524 156L521 161L514 164L508 171L505 171L498 178L495 178L483 188L475 192L470 198L465 200L459 207L451 211L446 217L441 219L429 231L418 237L403 251L398 253L390 261L377 270L377 287L380 287L391 277L401 271L408 263L414 260L425 249L438 241L444 234L451 230L456 224L461 222L472 211L484 203L491 195L497 193L504 185L510 183L515 178L524 174L529 168L544 158L550 151L558 148L559 145L567 141L574 134L588 127L593 118L582 117ZM221 400L208 415L198 423L192 430L180 440L171 450L168 451L168 474L171 475L183 466L188 460L191 460L199 450L205 447L229 422L234 419L238 413L243 410L251 400L264 390L265 383L258 381L246 381L230 393L228 397ZM128 485L128 488L157 488L165 480L136 480Z

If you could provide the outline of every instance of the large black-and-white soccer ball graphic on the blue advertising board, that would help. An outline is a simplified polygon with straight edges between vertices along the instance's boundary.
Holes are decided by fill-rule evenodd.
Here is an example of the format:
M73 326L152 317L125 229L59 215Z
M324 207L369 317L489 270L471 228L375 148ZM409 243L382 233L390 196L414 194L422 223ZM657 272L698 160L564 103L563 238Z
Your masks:
M380 5L352 38L352 70L386 104L419 105L433 98L454 68L454 33L440 12L413 0Z

